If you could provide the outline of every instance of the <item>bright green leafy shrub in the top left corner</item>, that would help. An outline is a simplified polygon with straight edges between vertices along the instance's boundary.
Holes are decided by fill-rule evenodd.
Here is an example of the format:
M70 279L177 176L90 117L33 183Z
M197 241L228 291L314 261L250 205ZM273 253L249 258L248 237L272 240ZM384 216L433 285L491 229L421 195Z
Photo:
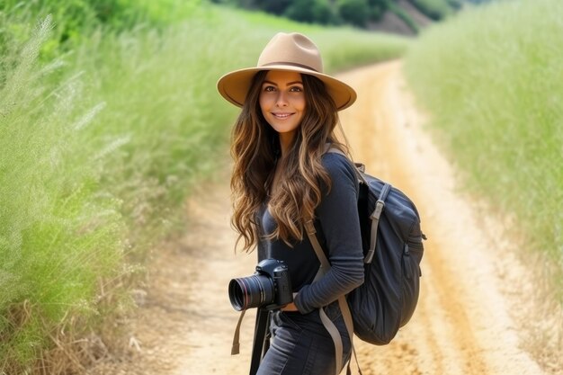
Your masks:
M0 3L0 52L8 40L22 44L31 37L32 20L50 15L56 21L41 58L57 56L58 49L71 50L95 29L109 27L127 31L134 27L163 28L192 16L203 0L4 0ZM9 22L8 22L9 20ZM3 41L4 40L4 41Z

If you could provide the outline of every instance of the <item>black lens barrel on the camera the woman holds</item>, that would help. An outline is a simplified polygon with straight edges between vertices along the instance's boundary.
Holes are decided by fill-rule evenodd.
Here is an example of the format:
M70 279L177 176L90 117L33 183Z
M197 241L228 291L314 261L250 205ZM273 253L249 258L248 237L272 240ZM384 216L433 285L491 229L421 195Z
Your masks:
M274 288L271 278L263 275L233 279L228 283L228 297L237 311L258 308L273 302Z

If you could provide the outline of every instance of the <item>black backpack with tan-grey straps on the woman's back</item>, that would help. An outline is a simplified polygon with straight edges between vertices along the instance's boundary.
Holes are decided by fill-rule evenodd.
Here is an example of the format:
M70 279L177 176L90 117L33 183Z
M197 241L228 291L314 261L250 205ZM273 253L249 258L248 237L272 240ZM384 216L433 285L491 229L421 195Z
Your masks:
M342 154L335 149L328 152ZM398 328L407 324L415 312L425 237L416 206L405 193L365 174L363 165L356 165L356 171L360 181L358 213L365 276L363 284L348 294L346 299L339 299L339 302L351 340L353 329L353 333L362 341L389 344L397 335ZM330 264L319 245L314 226L308 223L306 227L308 238L321 263L319 273L324 273ZM348 308L349 312L346 312ZM321 309L321 318L324 315ZM332 322L326 319L323 322L330 333ZM333 335L333 339L336 362L339 363L339 344L336 341L340 337Z

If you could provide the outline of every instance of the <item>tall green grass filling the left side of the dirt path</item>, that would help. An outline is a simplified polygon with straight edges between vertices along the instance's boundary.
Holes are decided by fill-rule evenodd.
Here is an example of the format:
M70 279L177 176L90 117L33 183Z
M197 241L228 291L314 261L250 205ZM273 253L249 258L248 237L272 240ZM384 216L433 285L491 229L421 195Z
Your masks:
M26 26L0 19L3 37ZM61 332L95 332L130 308L122 281L182 225L191 187L228 161L236 109L216 92L221 74L254 65L280 30L311 31L332 70L407 47L205 4L169 26L86 28L66 47L49 44L58 22L40 18L2 45L0 372L31 373Z

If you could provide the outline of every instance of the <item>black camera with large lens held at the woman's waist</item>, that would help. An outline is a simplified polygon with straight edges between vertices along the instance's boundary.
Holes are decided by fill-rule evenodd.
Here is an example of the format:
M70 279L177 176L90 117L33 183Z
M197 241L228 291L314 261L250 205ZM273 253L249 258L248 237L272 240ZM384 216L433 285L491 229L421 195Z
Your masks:
M247 308L281 308L293 301L288 266L276 259L264 259L252 276L228 283L228 298L237 311Z

